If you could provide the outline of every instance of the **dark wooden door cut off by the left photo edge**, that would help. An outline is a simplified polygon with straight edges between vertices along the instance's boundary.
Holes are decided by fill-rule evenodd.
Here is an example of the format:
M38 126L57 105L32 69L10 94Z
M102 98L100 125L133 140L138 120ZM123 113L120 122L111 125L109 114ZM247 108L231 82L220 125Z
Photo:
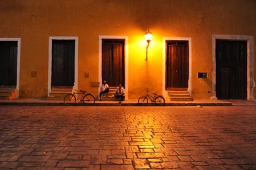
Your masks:
M0 86L17 85L17 41L0 41Z

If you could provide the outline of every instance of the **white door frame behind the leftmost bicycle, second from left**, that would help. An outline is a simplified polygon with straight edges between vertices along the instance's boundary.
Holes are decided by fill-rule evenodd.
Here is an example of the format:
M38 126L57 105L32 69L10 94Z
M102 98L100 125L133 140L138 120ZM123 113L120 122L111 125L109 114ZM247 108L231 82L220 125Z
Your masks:
M75 40L75 82L74 89L78 87L78 37L49 37L49 58L48 58L48 96L51 92L51 62L52 62L52 47L53 40Z

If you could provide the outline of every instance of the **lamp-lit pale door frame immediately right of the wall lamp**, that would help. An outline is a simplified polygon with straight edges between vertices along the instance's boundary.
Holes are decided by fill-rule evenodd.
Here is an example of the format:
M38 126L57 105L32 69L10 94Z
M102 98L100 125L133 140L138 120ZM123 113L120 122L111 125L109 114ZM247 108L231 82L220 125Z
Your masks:
M192 50L191 50L191 37L163 37L163 70L162 70L162 80L163 80L163 83L162 83L162 94L164 96L167 95L167 90L165 90L165 83L166 83L166 80L165 80L165 72L166 72L166 64L165 64L165 59L166 59L166 41L188 41L189 44L188 44L188 47L189 47L189 77L188 77L188 82L187 82L187 91L189 92L189 94L191 95L191 89L192 89L192 85L191 85L191 61L192 61Z

